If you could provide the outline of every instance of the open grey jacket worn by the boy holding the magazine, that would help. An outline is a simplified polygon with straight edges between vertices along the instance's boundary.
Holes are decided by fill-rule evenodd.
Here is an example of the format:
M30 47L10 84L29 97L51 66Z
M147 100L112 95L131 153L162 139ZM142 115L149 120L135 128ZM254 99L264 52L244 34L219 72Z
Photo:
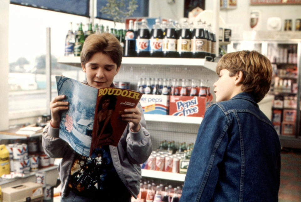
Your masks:
M152 151L150 133L145 129L146 123L141 104L137 105L142 113L140 131L131 132L129 124L123 132L117 146L109 146L113 165L119 178L135 198L139 193L141 167ZM75 151L68 143L59 138L59 129L47 125L43 131L42 145L45 153L52 158L62 158L58 167L61 179L61 192L65 194L65 188L69 180L70 169L75 157Z

